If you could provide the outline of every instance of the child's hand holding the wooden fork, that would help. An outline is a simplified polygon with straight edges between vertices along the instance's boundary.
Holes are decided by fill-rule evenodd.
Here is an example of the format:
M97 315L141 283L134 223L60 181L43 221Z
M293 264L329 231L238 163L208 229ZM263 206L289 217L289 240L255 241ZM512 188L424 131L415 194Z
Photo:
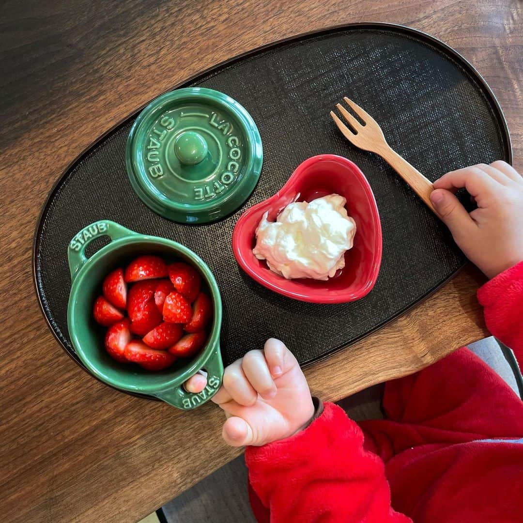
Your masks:
M470 214L452 193L465 187ZM454 170L434 182L436 211L465 256L493 278L523 260L523 178L505 162Z

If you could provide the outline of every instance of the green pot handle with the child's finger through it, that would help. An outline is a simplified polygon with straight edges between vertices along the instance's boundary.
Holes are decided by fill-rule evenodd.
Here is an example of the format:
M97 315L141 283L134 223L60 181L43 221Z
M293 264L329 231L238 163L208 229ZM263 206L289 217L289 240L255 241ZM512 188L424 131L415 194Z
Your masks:
M183 384L181 384L174 389L155 393L155 396L169 405L174 405L184 411L200 406L202 403L210 400L218 392L222 384L223 363L219 344L214 347L207 361L203 363L202 368L207 370L207 386L202 392L197 394L187 392Z

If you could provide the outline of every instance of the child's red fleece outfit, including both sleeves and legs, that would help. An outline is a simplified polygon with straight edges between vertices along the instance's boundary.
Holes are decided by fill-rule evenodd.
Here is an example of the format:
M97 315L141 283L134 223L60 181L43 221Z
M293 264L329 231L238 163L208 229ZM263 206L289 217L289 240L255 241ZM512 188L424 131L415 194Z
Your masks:
M477 296L521 366L523 262ZM326 403L301 433L248 447L258 521L523 521L523 440L509 441L523 438L523 402L480 358L462 347L386 383L383 408L358 426Z

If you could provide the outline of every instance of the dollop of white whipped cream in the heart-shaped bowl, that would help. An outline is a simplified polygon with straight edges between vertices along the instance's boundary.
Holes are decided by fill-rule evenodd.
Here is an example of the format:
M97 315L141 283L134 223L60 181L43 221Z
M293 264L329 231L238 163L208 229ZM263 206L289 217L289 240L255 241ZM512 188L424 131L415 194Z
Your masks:
M347 215L346 199L329 195L307 203L289 203L275 222L267 212L256 229L253 254L285 278L327 280L345 267L356 223Z

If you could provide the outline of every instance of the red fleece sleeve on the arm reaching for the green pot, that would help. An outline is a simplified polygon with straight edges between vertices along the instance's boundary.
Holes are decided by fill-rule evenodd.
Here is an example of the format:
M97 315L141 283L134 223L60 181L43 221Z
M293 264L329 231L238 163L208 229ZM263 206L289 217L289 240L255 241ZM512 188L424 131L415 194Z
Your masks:
M297 435L247 447L245 461L258 521L327 523L411 521L391 508L384 465L363 450L358 425L332 403Z

